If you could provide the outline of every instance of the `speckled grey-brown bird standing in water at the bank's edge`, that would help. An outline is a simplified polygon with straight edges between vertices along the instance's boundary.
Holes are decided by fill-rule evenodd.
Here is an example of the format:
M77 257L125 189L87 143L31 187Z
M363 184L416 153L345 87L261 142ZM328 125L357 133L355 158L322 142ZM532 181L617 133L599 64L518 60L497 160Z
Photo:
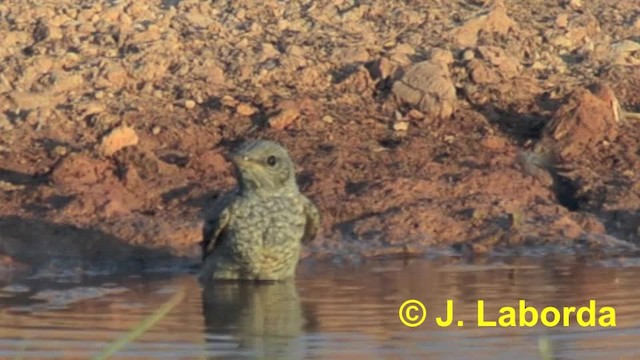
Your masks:
M200 280L294 278L320 213L300 192L289 153L273 141L248 140L229 159L237 186L205 215Z

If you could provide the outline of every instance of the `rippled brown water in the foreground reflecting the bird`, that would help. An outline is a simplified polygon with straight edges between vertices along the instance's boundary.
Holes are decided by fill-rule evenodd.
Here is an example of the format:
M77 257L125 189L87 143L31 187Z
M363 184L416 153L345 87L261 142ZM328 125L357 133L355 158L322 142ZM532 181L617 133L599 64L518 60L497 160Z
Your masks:
M640 262L569 258L305 263L295 282L224 283L202 291L193 274L14 279L0 286L0 358L84 359L147 318L176 293L183 300L114 355L123 359L636 359ZM398 308L418 299L419 327ZM463 327L433 317L454 302ZM496 320L519 299L544 306L616 310L617 327L477 327L477 300ZM411 313L415 315L414 313Z

